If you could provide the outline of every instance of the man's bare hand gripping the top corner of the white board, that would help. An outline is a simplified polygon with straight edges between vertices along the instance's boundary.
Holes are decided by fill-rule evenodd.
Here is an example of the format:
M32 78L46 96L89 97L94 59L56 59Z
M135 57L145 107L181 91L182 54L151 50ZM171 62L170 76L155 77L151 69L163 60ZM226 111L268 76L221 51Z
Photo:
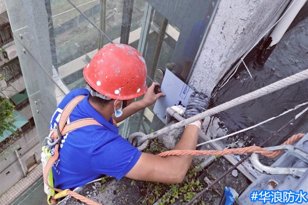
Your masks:
M141 100L144 108L153 105L158 98L166 96L165 93L161 92L160 88L161 86L158 83L152 83L151 87L148 88L143 99Z

